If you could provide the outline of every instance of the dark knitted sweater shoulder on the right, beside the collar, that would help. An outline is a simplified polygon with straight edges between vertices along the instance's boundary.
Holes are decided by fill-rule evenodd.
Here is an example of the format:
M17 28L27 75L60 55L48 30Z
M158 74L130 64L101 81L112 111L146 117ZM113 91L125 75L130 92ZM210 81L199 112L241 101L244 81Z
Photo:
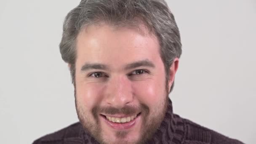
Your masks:
M243 144L237 139L224 136L190 120L184 119L186 136L184 144Z

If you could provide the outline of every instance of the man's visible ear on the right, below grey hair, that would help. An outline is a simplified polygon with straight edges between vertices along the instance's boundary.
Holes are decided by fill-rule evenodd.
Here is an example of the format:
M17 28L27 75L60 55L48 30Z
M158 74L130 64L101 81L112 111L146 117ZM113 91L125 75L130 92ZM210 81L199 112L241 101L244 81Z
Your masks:
M175 58L173 60L173 63L171 64L169 75L168 75L169 76L169 81L168 81L168 90L169 91L171 89L171 86L173 85L174 77L178 70L178 67L179 67L179 58Z

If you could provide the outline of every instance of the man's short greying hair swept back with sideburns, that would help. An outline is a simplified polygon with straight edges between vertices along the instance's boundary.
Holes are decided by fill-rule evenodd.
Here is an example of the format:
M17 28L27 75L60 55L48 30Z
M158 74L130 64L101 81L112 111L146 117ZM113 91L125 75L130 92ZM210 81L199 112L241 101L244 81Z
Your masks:
M173 60L181 56L181 38L174 16L164 0L81 0L67 14L59 44L62 59L70 65L72 83L75 84L77 35L83 27L100 22L133 28L142 22L159 40L168 83L169 68Z

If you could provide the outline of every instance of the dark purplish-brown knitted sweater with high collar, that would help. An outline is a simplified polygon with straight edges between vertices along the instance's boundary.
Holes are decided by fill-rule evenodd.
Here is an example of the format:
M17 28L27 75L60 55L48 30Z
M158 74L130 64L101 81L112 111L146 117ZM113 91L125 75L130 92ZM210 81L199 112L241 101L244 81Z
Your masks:
M33 144L99 144L80 123L37 139ZM173 114L169 99L165 118L147 144L243 144Z

